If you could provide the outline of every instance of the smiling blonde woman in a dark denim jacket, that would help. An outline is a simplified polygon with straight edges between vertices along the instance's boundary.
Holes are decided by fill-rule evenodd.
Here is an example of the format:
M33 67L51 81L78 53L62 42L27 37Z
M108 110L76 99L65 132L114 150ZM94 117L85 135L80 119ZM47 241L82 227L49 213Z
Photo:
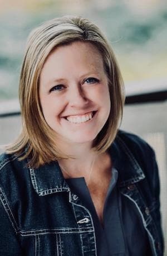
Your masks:
M154 151L119 131L124 87L99 28L43 23L19 84L23 129L1 156L1 255L163 255Z

